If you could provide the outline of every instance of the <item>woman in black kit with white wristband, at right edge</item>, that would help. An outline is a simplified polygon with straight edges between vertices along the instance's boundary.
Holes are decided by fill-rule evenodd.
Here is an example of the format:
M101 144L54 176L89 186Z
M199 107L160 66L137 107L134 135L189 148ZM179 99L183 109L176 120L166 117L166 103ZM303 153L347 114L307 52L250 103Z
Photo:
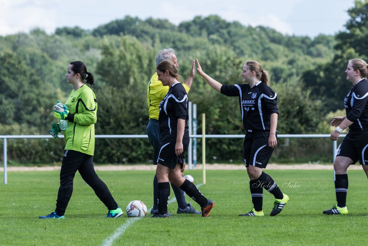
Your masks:
M331 125L336 127L330 139L337 140L344 129L349 132L344 138L333 168L335 169L335 192L337 203L323 214L347 214L346 194L348 187L347 168L358 160L368 177L368 68L361 59L351 59L345 70L346 79L353 88L344 99L345 116L333 117Z

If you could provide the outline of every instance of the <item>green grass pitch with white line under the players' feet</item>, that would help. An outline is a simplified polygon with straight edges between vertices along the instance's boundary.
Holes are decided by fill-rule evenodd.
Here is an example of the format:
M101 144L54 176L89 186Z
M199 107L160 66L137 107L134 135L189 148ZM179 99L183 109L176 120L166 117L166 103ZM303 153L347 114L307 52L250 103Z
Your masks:
M263 192L264 217L243 217L252 208L245 171L207 171L202 193L216 205L208 218L177 215L168 219L128 218L131 200L152 207L153 171L99 171L124 215L105 218L106 207L77 173L65 219L38 219L54 211L59 172L9 172L0 184L0 245L367 245L367 177L349 171L348 215L323 215L334 204L332 171L269 170L290 197L283 211L269 216L273 196ZM201 170L186 171L202 182ZM1 177L3 173L0 173ZM2 180L1 180L2 181ZM291 182L290 182L291 181ZM288 184L289 183L289 184ZM171 197L173 192L171 191ZM187 197L195 208L199 206Z

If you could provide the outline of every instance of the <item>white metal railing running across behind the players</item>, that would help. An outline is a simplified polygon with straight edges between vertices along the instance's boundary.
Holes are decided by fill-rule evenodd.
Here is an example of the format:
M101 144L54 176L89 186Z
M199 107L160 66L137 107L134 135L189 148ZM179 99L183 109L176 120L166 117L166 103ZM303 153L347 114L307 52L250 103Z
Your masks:
M341 134L339 137L343 138L346 134ZM60 135L60 138L64 138L64 135ZM277 138L329 138L330 134L278 134ZM0 135L0 139L3 139L3 160L4 160L4 184L7 184L7 139L16 138L53 138L51 135ZM95 135L95 138L148 138L147 135ZM190 135L190 138L244 138L243 134L233 135L211 135L202 134ZM333 160L335 161L337 152L337 142L333 141ZM203 143L202 143L203 144ZM188 156L191 156L192 149L188 149ZM189 169L192 167L191 158L188 159L190 163Z

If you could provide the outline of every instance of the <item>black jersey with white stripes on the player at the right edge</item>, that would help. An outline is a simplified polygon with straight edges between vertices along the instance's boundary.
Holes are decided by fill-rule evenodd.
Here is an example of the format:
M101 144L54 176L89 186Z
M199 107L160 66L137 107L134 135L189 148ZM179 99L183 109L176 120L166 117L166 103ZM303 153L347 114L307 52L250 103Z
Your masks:
M368 81L360 80L344 99L346 118L353 122L350 132L368 130Z

